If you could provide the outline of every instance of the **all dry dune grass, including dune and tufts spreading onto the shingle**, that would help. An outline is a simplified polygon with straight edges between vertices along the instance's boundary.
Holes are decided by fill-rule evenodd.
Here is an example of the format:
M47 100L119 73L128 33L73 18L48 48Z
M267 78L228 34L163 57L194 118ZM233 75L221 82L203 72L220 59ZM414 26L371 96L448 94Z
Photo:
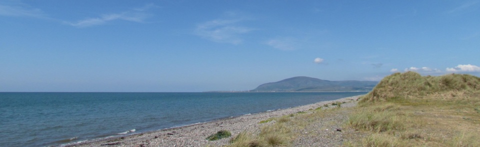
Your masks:
M475 76L395 73L360 97L357 107L341 104L260 121L275 122L240 133L230 147L288 146L295 137L314 135L299 132L309 123L340 111L350 112L342 130L355 130L343 134L346 147L480 147L480 78Z

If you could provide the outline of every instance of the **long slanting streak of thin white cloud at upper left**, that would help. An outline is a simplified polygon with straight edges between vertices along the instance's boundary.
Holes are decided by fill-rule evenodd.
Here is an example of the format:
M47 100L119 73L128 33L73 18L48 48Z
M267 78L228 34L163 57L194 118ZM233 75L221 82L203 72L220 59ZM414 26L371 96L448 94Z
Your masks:
M93 25L101 25L105 24L109 21L113 20L124 20L124 21L132 21L132 22L143 22L145 18L150 16L149 13L145 12L148 9L156 7L153 4L147 4L140 8L134 8L130 11L124 11L119 13L109 13L109 14L101 14L95 18L86 18L82 20L78 20L76 22L65 22L71 26L76 27L88 27Z

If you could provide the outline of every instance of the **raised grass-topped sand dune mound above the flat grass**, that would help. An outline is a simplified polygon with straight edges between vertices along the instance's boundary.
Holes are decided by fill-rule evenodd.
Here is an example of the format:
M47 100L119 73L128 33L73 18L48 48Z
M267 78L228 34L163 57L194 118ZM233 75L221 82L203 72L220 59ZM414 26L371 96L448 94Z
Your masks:
M464 100L478 98L479 91L480 78L472 75L422 77L415 72L394 73L383 78L360 102L374 103L392 98Z

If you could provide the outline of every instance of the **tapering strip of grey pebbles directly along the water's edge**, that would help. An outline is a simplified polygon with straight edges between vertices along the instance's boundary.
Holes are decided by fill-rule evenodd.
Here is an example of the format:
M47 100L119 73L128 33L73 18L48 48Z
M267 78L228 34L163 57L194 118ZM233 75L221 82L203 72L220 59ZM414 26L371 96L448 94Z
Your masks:
M243 131L253 131L260 126L268 124L258 124L262 120L268 118L280 117L283 115L289 115L299 111L308 111L310 109L316 109L323 107L324 104L330 104L333 102L354 102L347 103L356 105L356 99L360 97L352 96L345 97L336 100L322 101L313 104L297 106L287 109L271 110L266 112L260 112L255 114L245 114L237 117L228 117L218 119L210 122L196 123L179 127L166 128L156 131L143 132L138 134L128 134L120 136L111 136L105 138L98 138L93 140L79 141L76 143L69 143L58 145L54 147L98 147L98 146L115 146L115 147L204 147L213 146L218 147L222 145L228 145L230 138L235 137L237 134ZM329 106L334 107L334 106ZM351 107L350 105L342 105L342 107ZM212 135L220 130L228 130L232 136L226 139L217 141L207 141L206 137Z

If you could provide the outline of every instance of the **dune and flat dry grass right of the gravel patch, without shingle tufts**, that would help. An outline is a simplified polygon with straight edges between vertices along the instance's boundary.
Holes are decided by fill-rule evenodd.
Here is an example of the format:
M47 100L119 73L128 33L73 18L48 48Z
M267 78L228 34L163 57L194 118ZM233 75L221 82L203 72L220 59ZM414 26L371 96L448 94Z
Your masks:
M385 77L349 116L346 126L367 134L350 147L480 147L480 78L414 72Z

